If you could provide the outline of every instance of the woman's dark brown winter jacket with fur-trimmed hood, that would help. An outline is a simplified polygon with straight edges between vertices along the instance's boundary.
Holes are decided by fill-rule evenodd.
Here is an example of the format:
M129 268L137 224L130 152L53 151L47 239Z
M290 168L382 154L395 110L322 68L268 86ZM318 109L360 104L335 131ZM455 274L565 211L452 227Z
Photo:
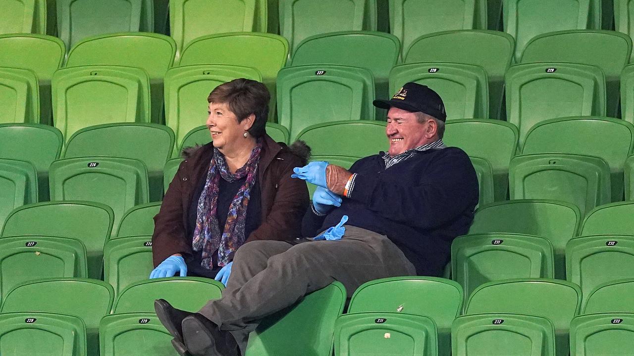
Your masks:
M262 224L251 232L245 243L254 240L290 240L299 238L301 223L309 204L306 182L291 178L294 167L306 164L310 149L298 141L291 146L276 143L268 135L257 168L260 184ZM214 155L212 143L200 146L178 167L165 193L159 213L154 217L152 255L154 266L165 258L181 253L191 255L191 238L185 234L191 200L200 179L207 177Z

